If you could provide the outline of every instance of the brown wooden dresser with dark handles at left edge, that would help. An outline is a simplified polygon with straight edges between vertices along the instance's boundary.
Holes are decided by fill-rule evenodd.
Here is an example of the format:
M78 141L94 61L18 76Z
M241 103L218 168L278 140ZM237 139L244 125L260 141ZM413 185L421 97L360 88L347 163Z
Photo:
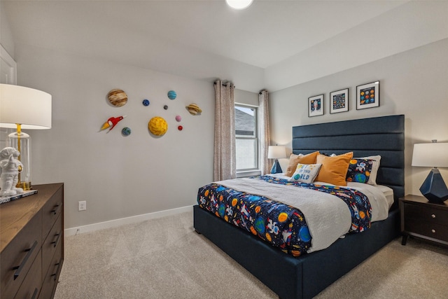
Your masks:
M0 204L0 298L53 298L64 261L64 184Z

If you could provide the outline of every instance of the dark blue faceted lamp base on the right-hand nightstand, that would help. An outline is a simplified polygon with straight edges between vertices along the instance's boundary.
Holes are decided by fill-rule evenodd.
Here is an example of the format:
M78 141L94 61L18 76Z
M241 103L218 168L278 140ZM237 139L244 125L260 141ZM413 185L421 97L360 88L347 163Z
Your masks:
M433 168L423 181L420 187L421 194L428 199L429 202L441 204L448 200L448 188L443 181L439 169Z

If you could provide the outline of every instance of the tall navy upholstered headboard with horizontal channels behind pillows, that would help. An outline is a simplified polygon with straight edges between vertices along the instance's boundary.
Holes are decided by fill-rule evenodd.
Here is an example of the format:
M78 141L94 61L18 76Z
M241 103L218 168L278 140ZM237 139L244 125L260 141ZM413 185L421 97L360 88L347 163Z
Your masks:
M381 155L377 183L405 195L405 116L381 116L293 127L293 153ZM396 206L396 205L395 205Z

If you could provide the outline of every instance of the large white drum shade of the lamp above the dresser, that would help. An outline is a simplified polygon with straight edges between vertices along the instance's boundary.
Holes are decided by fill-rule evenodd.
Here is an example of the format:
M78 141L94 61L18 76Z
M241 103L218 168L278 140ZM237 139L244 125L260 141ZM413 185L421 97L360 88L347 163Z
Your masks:
M51 128L51 95L18 85L0 84L0 127Z

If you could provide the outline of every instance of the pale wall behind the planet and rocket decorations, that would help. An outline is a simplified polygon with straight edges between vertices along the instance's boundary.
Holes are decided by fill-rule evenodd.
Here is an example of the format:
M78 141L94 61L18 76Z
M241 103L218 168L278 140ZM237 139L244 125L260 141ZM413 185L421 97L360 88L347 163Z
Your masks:
M213 179L213 82L20 43L15 59L18 85L52 95L52 129L29 132L31 174L34 184L64 182L66 228L186 207ZM109 104L113 88L127 92L125 106ZM168 99L169 90L176 99ZM141 104L146 98L148 107ZM188 113L192 102L202 115ZM174 119L178 114L181 123ZM109 133L99 132L109 117L120 115L127 118ZM163 137L148 132L153 116L168 122ZM120 133L125 126L132 129L129 137ZM87 211L78 211L79 200L87 201Z

